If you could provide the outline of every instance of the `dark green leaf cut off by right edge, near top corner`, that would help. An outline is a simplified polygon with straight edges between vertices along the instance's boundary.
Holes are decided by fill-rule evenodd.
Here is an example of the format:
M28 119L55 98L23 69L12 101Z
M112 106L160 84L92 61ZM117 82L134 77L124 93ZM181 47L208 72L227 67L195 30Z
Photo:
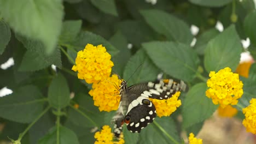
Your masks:
M251 43L256 46L256 34L254 33L256 31L255 28L255 22L256 22L256 10L252 11L252 13L249 13L244 22L244 29L246 35L250 38Z

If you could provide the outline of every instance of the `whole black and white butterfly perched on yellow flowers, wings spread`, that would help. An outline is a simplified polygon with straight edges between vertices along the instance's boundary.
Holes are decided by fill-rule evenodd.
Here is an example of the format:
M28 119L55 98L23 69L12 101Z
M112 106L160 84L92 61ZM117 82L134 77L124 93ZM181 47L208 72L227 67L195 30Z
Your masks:
M115 123L115 137L121 134L124 123L132 133L140 133L143 128L153 122L156 110L149 98L168 99L177 91L185 91L185 88L183 81L177 83L172 79L139 83L130 87L127 87L126 81L122 81L119 91L120 104L117 113L112 118Z

